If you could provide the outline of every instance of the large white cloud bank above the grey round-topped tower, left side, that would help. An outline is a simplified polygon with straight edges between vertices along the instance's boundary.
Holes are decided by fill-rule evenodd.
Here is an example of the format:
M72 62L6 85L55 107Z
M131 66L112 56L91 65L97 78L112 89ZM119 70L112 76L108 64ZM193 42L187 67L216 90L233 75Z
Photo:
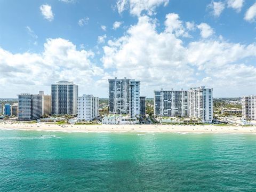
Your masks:
M62 38L47 39L44 51L38 54L14 54L0 48L0 73L4 72L0 77L1 89L9 91L7 87L15 87L16 94L36 93L41 87L49 90L52 83L62 79L91 87L93 77L103 74L103 70L92 63L93 57L92 51L78 51L76 45Z

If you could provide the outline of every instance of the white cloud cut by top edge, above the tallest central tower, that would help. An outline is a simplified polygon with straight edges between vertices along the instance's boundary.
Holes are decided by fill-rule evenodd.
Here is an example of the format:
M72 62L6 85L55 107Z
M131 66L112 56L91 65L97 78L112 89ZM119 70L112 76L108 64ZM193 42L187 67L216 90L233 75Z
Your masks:
M119 14L130 9L132 15L140 16L143 11L152 15L157 6L162 4L166 6L168 3L169 0L118 0L116 6Z

